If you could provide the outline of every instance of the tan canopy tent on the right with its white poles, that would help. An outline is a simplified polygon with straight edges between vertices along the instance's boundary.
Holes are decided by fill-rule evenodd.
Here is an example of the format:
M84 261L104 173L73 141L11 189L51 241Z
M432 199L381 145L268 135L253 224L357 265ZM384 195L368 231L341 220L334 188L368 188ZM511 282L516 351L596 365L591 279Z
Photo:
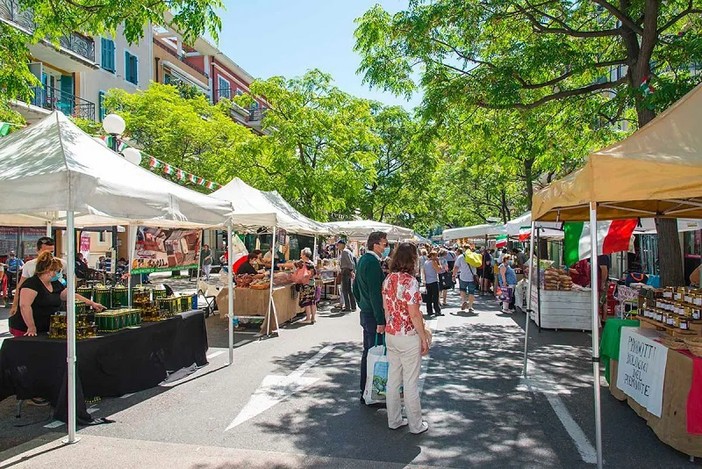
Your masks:
M590 221L639 218L702 218L702 85L630 137L590 155L585 165L534 194L536 221ZM532 222L532 231L534 223ZM598 252L597 232L590 252ZM591 278L597 263L591 263ZM591 295L595 442L602 466L599 314ZM524 374L527 375L528 324Z

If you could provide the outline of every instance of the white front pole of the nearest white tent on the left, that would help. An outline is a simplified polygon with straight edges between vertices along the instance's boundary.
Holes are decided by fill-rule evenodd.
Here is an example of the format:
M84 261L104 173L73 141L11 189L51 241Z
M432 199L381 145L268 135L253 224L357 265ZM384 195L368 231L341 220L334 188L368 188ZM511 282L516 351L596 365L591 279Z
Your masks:
M68 294L66 295L66 320L68 325L66 356L68 366L68 439L65 443L73 444L78 441L76 437L76 252L75 252L75 219L74 213L66 213L66 238L68 245L68 259L66 259L66 285Z

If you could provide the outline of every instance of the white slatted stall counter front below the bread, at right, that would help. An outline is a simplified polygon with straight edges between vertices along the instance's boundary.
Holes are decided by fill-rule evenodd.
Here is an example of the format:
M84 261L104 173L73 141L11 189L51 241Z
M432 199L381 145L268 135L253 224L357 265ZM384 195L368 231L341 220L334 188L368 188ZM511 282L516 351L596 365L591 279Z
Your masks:
M531 291L531 319L545 329L592 330L592 297L590 290L541 290ZM539 314L539 307L541 313Z

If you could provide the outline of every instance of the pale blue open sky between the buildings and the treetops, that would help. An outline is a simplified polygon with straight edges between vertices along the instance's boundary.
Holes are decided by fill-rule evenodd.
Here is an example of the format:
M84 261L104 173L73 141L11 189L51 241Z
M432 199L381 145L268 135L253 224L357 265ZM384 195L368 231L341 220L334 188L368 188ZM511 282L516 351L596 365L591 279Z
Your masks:
M293 78L318 68L331 74L343 91L410 110L409 102L382 90L370 90L356 74L360 57L353 51L354 20L375 4L391 13L407 0L226 0L221 14L219 48L256 78Z

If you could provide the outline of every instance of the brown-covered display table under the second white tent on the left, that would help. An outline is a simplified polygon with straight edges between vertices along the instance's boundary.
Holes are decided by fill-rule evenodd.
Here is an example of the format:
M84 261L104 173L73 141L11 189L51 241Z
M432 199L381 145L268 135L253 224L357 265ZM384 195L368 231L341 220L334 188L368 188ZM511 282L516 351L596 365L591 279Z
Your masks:
M254 290L252 288L234 289L234 315L235 316L266 316L268 310L268 290ZM217 295L217 308L219 315L227 319L229 289L224 288ZM278 323L290 321L300 310L298 306L299 293L295 285L273 287L273 302L275 303ZM263 321L261 332L266 332L267 322ZM271 331L276 330L275 320L271 323Z

